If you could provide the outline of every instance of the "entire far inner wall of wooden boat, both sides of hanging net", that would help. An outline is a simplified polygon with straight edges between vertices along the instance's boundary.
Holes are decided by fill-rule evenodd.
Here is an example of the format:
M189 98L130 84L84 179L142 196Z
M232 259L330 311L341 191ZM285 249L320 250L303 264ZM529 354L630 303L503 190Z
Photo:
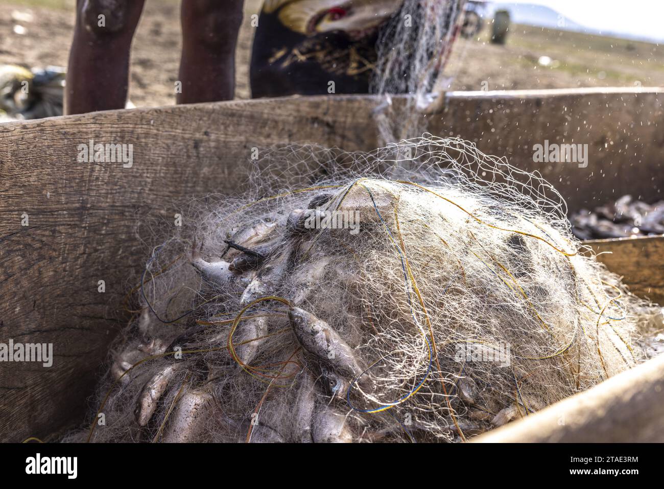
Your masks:
M448 94L430 131L473 140L529 169L533 144L573 138L596 148L588 168L540 168L560 179L572 205L627 191L648 199L658 191L651 175L661 165L663 97L651 89ZM236 191L252 147L373 149L370 114L380 102L253 100L0 125L0 342L54 347L50 368L0 363L0 440L48 438L82 419L108 342L126 321L122 297L145 263L135 233L141 219L183 197ZM133 166L78 163L78 145L90 140L132 144Z

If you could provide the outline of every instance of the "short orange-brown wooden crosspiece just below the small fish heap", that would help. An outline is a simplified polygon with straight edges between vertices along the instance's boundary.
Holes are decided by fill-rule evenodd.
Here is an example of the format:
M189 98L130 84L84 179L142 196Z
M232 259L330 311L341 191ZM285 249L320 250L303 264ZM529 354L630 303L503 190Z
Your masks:
M586 241L606 267L621 276L637 296L664 304L664 237Z

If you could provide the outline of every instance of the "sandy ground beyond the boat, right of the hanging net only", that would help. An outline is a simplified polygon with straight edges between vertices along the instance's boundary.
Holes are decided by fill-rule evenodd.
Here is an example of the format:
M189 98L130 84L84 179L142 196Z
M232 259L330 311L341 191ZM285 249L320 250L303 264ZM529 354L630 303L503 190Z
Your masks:
M459 39L446 68L454 90L664 86L664 46L515 25L504 46L491 25L477 39ZM540 56L550 58L548 66Z

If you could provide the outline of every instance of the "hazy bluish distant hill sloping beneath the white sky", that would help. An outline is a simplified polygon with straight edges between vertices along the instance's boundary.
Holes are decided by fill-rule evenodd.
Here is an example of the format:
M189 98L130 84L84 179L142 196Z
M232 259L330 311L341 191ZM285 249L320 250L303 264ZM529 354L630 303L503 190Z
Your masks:
M590 35L621 37L623 39L633 39L635 41L662 42L662 39L653 39L638 34L600 31L599 29L594 29L593 27L573 22L558 11L551 9L550 7L545 7L544 5L535 5L532 3L491 2L486 11L487 17L493 17L493 13L496 10L509 11L511 21L515 24L546 27L548 29L559 29L561 31L573 31Z

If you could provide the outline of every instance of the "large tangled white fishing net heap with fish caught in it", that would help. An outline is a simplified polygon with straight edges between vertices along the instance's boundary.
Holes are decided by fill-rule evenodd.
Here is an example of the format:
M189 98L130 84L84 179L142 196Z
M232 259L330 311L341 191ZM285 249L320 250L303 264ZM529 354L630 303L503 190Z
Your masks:
M91 440L464 440L641 361L558 192L473 144L282 146L250 183L154 248Z

